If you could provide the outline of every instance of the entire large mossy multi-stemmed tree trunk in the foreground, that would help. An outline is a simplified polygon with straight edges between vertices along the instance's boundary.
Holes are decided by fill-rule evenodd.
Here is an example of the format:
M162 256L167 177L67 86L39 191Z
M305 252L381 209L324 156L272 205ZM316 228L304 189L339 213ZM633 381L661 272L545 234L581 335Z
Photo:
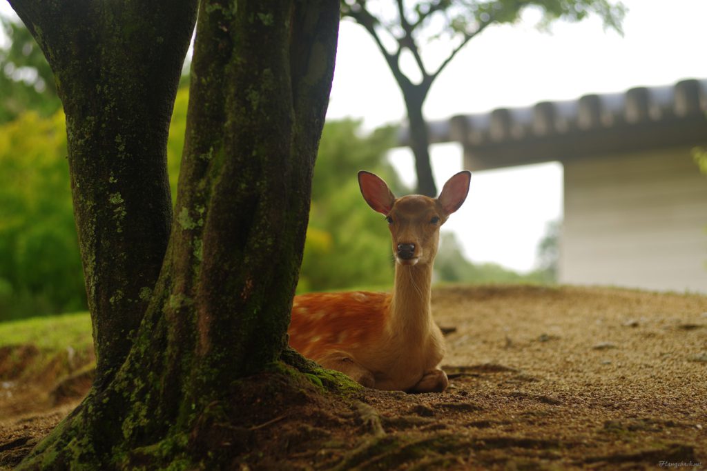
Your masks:
M22 466L223 465L204 417L286 352L339 2L201 2L173 220L194 1L64 3L12 1L66 109L98 380Z

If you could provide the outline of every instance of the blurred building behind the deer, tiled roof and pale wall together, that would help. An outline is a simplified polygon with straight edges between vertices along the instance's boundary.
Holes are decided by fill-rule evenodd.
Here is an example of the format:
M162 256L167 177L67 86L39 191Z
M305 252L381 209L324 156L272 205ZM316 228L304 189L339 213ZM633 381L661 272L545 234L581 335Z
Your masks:
M559 161L559 281L707 291L707 80L585 95L430 124L474 170ZM401 141L406 140L404 134Z

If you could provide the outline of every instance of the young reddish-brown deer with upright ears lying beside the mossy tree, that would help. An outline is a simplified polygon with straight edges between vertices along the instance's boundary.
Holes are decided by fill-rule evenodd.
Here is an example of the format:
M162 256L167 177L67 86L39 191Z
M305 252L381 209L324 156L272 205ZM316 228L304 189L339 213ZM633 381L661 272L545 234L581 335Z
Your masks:
M430 306L432 264L439 228L464 203L470 178L470 172L455 174L437 199L395 198L385 181L370 172L358 172L363 198L385 215L390 228L396 261L393 292L295 297L290 345L368 388L416 393L445 390L449 381L438 367L445 354L444 339Z

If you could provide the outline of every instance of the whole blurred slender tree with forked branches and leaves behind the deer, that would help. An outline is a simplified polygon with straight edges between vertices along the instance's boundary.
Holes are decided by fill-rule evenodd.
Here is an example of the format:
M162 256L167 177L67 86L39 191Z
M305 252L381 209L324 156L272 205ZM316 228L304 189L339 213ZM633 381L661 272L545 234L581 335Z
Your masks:
M342 15L366 28L402 92L418 193L437 195L430 165L430 139L422 112L432 84L473 37L490 25L514 23L526 8L536 8L542 13L540 26L558 18L580 21L595 14L606 28L619 32L625 13L621 3L611 4L608 0L341 1ZM447 47L448 52L430 61L425 52L438 44ZM404 69L402 58L406 54L416 66L413 69Z

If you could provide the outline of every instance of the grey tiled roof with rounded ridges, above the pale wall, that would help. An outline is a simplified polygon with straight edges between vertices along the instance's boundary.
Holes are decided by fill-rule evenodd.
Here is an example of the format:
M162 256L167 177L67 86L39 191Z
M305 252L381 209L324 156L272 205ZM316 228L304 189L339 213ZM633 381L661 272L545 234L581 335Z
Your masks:
M455 116L429 131L433 143L461 143L472 170L707 144L707 79Z

